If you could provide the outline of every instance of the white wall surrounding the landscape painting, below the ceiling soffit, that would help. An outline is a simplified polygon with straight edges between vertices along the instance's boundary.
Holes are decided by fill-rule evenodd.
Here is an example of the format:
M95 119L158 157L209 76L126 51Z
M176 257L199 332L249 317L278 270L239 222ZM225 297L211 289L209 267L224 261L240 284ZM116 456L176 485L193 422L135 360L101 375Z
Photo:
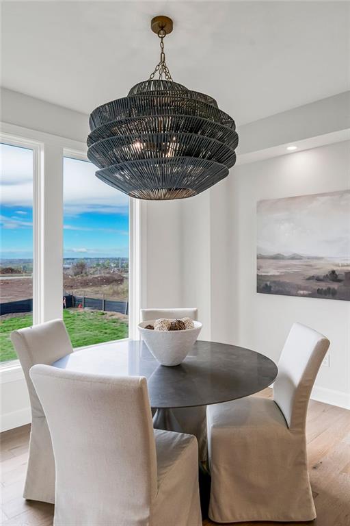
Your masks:
M238 311L237 306L232 308L237 316L235 339L278 360L292 323L299 321L321 331L331 341L330 366L321 368L316 394L329 395L342 405L350 401L350 302L256 293L256 202L350 188L349 148L350 142L340 142L239 166L228 185L237 206L237 221L232 225L239 305Z

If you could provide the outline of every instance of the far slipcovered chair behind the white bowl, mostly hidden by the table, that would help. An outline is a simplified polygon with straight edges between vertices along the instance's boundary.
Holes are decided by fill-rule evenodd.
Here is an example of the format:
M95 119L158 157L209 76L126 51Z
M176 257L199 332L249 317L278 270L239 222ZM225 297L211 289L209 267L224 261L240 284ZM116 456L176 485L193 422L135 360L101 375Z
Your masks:
M196 308L185 309L142 309L141 320L157 320L158 318L180 319L189 317L193 320L198 318ZM196 436L200 460L206 460L206 407L200 408L176 408L172 410L180 429L185 433Z

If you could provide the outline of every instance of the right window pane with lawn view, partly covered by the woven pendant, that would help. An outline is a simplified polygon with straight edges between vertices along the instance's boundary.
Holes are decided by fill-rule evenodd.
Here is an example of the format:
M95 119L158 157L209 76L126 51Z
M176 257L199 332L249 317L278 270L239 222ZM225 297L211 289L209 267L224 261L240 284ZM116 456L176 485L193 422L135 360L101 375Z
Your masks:
M129 336L129 197L64 158L64 322L73 347Z

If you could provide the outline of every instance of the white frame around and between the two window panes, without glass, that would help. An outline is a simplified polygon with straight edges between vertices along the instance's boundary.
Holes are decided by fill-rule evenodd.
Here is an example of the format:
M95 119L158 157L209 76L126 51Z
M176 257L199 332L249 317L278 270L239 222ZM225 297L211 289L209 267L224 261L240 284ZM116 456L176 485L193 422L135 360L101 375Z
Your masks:
M58 295L57 288L55 297L50 296L52 271L46 262L46 255L50 253L50 244L53 246L51 233L55 232L58 224L61 225L63 239L63 159L70 157L88 161L87 147L84 142L8 123L1 123L0 142L33 150L33 325L62 318L62 290ZM50 208L50 201L56 199L49 184L52 170L59 177L62 199L57 201L56 207ZM139 339L139 310L146 302L146 212L146 203L129 199L129 338L125 340ZM45 218L47 213L50 221ZM55 266L61 269L63 280L63 241L61 245L62 257L59 261L56 258ZM54 306L48 314L47 306L52 301ZM19 360L0 364L0 383L21 378L23 372Z

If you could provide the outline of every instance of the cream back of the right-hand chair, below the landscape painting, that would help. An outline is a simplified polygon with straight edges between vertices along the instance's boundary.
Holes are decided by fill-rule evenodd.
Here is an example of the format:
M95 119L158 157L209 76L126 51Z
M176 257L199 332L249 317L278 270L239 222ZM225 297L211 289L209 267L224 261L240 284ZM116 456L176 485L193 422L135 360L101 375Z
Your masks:
M294 323L278 362L273 399L291 429L304 431L311 390L329 347L322 334Z

